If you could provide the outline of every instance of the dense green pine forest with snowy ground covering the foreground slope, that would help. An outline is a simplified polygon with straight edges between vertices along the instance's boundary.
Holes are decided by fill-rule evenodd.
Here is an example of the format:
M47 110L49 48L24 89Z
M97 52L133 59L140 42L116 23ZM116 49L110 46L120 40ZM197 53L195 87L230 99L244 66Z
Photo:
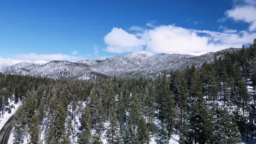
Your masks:
M240 143L256 131L256 39L212 63L154 78L52 80L0 74L0 106L21 101L15 143Z

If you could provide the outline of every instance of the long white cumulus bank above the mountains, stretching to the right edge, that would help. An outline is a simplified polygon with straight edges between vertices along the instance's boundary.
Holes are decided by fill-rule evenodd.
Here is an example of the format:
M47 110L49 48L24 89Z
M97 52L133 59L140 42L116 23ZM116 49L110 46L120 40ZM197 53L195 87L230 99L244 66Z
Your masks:
M222 32L199 31L174 25L144 29L135 34L113 28L105 37L108 52L149 51L201 55L229 47L252 43L256 33L222 27Z

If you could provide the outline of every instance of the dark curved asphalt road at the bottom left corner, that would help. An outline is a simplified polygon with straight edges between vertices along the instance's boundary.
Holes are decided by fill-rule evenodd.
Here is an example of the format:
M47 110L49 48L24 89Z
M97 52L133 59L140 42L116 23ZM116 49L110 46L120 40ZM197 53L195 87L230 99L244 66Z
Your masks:
M13 121L13 116L11 116L8 121L4 124L4 127L0 131L0 143L7 144L9 140L9 136L11 133L11 129L13 129L11 122Z

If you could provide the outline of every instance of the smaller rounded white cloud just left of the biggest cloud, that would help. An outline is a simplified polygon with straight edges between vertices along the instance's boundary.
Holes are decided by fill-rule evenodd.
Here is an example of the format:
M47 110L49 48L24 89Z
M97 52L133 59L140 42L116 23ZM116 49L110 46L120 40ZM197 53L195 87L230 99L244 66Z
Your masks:
M107 45L106 51L122 53L143 50L143 40L138 39L135 34L130 34L121 28L113 28L104 37Z

